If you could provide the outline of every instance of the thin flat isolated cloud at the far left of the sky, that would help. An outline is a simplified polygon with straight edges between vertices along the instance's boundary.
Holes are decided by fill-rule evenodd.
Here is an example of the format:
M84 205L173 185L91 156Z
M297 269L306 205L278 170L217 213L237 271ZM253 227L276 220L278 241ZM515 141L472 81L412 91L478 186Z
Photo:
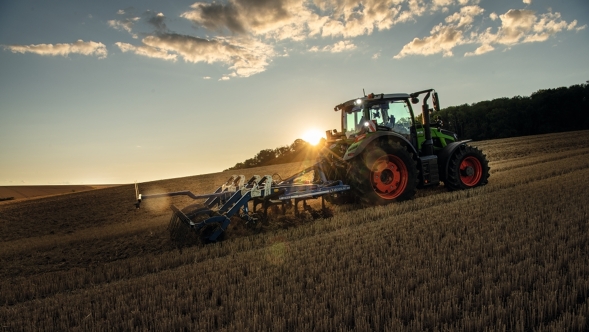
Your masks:
M67 57L70 54L81 54L97 56L99 59L106 58L108 51L103 43L93 41L85 42L78 40L71 44L36 44L36 45L6 45L4 49L12 53L34 53L39 55Z

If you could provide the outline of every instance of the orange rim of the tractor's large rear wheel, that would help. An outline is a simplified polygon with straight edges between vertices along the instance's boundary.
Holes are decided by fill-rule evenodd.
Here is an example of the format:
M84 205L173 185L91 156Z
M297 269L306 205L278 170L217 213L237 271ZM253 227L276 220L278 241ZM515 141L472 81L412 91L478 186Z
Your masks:
M407 188L409 172L405 163L397 156L386 155L372 165L370 179L372 188L384 199L395 199Z

